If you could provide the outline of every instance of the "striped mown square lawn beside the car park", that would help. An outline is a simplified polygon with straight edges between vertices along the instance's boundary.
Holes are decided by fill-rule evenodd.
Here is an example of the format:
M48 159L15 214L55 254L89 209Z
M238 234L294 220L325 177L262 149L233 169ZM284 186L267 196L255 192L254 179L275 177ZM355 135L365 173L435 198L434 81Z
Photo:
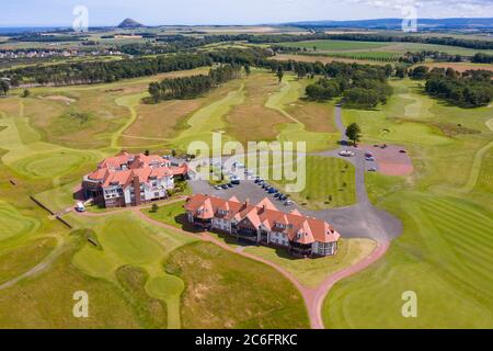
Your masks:
M306 186L301 192L290 194L296 202L309 210L356 203L355 168L352 163L335 157L308 156L305 159ZM287 181L273 180L272 183L283 186Z

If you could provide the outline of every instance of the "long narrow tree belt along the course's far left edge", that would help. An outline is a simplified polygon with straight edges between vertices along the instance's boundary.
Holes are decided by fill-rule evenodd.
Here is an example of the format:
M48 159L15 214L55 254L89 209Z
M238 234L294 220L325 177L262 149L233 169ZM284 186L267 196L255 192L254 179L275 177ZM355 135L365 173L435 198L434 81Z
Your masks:
M125 78L211 66L207 54L179 54L140 57L116 61L85 61L50 66L28 66L2 72L12 86L22 83L68 86L74 83L112 82Z

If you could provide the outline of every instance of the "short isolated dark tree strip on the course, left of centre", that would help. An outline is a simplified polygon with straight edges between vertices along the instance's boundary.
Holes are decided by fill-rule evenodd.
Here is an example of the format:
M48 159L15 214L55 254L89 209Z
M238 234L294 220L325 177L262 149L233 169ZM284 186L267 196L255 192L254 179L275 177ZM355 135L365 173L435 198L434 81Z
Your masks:
M152 82L149 84L149 93L153 102L172 99L194 99L211 88L240 78L240 76L241 66L225 65L210 69L208 76L180 77Z

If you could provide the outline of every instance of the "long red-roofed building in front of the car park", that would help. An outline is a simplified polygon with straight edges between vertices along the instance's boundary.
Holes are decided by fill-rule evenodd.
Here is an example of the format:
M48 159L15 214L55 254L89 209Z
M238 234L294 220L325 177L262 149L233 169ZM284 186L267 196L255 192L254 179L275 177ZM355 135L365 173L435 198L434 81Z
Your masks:
M234 196L222 200L197 194L186 201L184 208L187 220L196 227L283 247L298 257L335 254L341 237L326 222L303 216L296 210L284 213L268 199L252 205Z

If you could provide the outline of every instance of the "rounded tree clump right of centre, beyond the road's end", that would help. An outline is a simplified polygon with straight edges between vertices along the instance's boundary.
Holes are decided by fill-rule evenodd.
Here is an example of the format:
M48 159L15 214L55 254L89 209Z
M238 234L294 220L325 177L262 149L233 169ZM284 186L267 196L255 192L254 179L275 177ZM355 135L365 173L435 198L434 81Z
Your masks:
M343 94L346 105L375 107L386 103L392 93L387 79L393 73L391 65L369 66L330 63L324 67L326 78L319 79L306 89L309 99L325 101Z

